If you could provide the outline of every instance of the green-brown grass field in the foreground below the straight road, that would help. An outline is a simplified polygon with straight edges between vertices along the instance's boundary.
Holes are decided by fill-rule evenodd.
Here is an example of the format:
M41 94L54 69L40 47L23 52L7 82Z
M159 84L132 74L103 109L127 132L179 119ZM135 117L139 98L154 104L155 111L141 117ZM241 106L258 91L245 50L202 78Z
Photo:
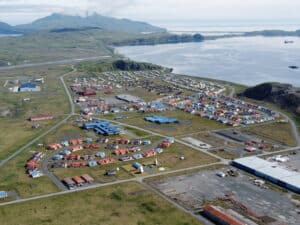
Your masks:
M134 182L3 206L0 216L1 225L201 224Z

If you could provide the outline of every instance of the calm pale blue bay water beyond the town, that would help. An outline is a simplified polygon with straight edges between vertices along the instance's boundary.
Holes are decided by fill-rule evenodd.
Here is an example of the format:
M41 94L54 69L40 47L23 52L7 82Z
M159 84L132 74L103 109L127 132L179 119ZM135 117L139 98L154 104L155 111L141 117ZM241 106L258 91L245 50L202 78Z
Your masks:
M293 40L285 44L285 40ZM133 60L171 67L175 73L256 85L284 82L300 87L300 38L239 37L201 43L119 47Z

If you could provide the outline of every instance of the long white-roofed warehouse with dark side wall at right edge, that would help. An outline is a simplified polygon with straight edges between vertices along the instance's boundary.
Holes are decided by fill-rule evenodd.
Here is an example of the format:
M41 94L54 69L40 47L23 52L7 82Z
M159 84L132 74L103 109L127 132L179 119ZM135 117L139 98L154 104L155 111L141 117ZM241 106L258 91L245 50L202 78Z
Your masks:
M232 165L300 194L300 173L289 170L276 162L251 156L236 159Z

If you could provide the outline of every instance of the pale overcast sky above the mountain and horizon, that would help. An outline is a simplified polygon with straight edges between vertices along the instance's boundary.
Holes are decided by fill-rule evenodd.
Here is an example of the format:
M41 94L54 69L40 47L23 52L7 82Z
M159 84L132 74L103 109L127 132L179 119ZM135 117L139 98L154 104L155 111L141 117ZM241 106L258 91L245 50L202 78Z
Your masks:
M299 0L0 0L0 21L22 24L53 12L98 12L154 24L211 20L299 23L299 9Z

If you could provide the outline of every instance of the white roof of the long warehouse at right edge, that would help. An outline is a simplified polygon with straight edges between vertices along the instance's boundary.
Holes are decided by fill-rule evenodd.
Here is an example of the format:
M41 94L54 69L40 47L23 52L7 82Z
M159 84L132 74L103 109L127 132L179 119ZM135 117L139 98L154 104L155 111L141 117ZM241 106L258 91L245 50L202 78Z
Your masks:
M234 162L300 188L300 173L289 170L276 162L269 162L256 156L236 159Z

